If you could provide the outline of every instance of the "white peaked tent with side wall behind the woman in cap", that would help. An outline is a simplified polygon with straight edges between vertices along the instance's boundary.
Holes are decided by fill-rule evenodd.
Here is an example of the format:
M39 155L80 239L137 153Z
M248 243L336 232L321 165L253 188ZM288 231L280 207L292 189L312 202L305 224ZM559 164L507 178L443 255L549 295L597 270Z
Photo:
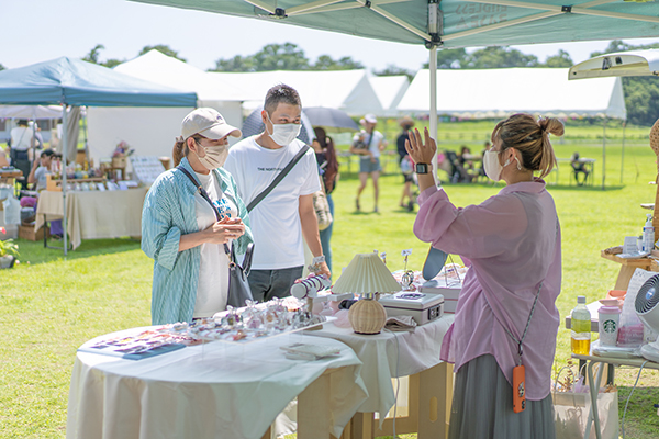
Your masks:
M256 98L250 91L230 87L221 78L158 50L123 63L114 70L174 89L194 91L198 106L214 108L235 126L243 123L242 101ZM170 156L174 138L180 135L181 121L190 111L192 108L90 108L90 155L94 160L110 157L123 140L139 156Z

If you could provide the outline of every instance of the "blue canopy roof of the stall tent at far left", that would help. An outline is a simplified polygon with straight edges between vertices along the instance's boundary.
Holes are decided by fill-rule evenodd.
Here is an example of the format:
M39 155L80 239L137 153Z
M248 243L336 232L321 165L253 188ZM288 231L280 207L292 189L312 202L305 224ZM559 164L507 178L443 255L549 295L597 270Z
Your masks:
M66 57L0 71L0 103L12 105L196 106L197 95Z

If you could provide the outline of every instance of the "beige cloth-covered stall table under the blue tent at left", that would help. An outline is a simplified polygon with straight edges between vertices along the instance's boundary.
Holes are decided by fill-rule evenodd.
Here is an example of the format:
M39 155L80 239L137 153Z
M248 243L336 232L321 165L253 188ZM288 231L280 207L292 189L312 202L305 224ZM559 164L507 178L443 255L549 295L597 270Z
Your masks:
M67 232L72 248L82 239L142 236L142 205L147 188L123 191L74 191L66 194ZM34 229L64 214L62 192L42 191Z

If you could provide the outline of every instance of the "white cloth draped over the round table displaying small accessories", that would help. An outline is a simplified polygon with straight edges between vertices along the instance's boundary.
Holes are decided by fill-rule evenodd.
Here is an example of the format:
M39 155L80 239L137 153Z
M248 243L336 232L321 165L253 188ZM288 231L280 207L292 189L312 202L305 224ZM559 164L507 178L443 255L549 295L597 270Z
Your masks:
M67 438L261 438L287 404L327 369L337 369L331 374L331 409L319 416L328 416L331 432L339 437L367 396L361 361L330 339L312 340L340 348L340 356L288 360L279 349L308 340L293 334L245 345L211 342L138 361L79 351Z

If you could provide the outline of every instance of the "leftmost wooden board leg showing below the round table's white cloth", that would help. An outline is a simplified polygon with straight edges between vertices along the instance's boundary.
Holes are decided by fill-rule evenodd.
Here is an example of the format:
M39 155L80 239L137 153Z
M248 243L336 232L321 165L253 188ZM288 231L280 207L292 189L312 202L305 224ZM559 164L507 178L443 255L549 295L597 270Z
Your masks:
M298 439L330 439L330 373L298 395Z

